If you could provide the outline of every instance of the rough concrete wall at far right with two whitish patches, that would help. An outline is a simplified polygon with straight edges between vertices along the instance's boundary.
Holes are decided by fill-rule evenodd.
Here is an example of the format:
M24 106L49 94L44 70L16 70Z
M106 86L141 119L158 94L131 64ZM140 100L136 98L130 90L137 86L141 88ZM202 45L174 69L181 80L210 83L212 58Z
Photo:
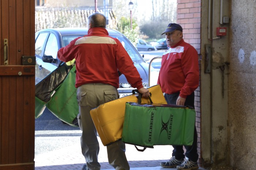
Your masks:
M230 163L256 167L256 1L232 0L230 29Z

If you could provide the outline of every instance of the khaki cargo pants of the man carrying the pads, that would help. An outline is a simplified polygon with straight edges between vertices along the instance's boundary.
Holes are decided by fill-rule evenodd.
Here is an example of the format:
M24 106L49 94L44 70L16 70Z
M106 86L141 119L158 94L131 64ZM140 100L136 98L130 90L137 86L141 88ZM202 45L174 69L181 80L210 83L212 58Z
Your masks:
M97 130L91 119L90 110L100 104L115 100L118 97L117 89L108 84L84 84L77 89L79 105L78 124L82 130L80 142L88 170L100 170L101 167L98 162L99 142L97 139ZM125 156L125 144L121 140L107 146L107 152L109 164L115 170L130 169Z

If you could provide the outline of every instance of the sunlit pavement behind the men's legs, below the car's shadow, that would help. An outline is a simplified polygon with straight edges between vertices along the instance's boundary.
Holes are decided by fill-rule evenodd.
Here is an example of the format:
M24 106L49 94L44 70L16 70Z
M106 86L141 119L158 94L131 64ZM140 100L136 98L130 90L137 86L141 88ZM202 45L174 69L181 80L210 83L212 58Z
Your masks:
M60 123L47 121L48 124ZM49 127L49 125L48 125ZM76 128L77 129L77 128ZM35 170L81 170L85 159L81 153L80 130L37 130L35 131ZM114 170L108 163L106 147L101 143L98 161L102 170ZM142 148L142 147L140 147ZM162 168L160 162L168 161L173 147L154 146L139 152L131 144L126 144L126 157L131 170L174 170Z

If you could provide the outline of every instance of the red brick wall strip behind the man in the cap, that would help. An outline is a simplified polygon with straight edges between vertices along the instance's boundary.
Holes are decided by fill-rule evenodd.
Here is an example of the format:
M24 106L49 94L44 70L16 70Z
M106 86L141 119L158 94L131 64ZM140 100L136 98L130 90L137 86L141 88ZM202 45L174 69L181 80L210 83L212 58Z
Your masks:
M177 23L183 28L183 38L190 43L200 56L201 53L201 1L202 0L177 0ZM200 57L199 69L201 70ZM201 72L201 71L200 71ZM200 83L195 91L197 151L199 154L199 165L202 167L201 154L201 109L200 109Z

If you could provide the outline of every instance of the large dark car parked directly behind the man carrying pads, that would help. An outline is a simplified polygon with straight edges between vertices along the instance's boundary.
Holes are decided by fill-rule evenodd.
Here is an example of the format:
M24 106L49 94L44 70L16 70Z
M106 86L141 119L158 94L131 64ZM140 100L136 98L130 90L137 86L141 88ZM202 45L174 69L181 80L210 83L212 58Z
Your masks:
M143 79L143 86L148 87L148 67L149 64L144 61L138 50L132 45L132 43L120 32L116 30L107 29L109 35L117 38L123 44L125 50L131 57L135 67L137 68L140 76ZM63 62L57 58L57 51L71 42L71 40L87 35L87 28L52 28L44 29L35 33L35 84L43 80ZM43 56L52 56L53 60L51 63L44 62ZM158 74L151 68L150 85L157 84ZM119 88L118 92L120 97L131 94L132 87L128 83L124 75L119 77Z

